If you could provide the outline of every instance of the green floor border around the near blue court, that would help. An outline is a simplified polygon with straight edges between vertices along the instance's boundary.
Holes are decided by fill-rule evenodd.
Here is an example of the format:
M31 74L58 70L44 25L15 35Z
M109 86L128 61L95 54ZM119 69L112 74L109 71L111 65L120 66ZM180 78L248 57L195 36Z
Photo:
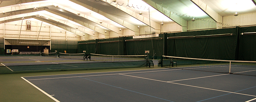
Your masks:
M160 68L160 67L154 67ZM149 67L140 68L121 68L121 69L97 69L79 71L59 71L59 72L37 72L37 73L18 73L0 74L0 101L1 102L55 102L47 95L36 89L21 77L40 76L40 75L60 75L91 72L112 72L124 70L150 69ZM151 67L153 69L153 67Z

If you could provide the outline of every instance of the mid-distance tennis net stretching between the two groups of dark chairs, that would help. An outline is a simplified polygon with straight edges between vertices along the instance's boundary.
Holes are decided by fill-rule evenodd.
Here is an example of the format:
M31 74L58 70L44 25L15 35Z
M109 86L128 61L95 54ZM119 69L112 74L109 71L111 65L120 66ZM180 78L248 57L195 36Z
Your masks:
M118 55L90 54L90 56L92 61L101 61L101 62L142 61L142 60L145 60L146 58L146 55L118 56Z

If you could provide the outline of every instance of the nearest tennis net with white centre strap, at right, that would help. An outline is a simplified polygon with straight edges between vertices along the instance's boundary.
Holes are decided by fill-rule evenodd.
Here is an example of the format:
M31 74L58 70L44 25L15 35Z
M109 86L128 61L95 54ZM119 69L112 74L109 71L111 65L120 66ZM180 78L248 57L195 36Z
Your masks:
M174 64L174 67L172 67L173 63L171 63L169 58L172 58L173 62L176 62L177 67L176 64ZM163 66L177 69L256 76L256 61L232 61L163 56L163 61L161 64Z

